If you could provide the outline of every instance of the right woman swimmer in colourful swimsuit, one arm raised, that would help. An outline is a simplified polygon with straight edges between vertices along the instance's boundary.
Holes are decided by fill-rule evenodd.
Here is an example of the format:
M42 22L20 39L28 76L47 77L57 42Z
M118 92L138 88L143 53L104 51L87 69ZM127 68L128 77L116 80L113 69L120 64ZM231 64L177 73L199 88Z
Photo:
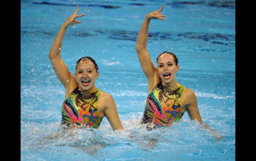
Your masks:
M177 56L164 51L157 57L156 68L146 49L150 21L165 21L166 16L160 13L163 8L164 5L146 15L136 42L138 58L148 80L148 97L142 123L148 123L149 129L170 126L187 111L191 120L195 119L202 124L194 92L176 80L176 72L180 69Z

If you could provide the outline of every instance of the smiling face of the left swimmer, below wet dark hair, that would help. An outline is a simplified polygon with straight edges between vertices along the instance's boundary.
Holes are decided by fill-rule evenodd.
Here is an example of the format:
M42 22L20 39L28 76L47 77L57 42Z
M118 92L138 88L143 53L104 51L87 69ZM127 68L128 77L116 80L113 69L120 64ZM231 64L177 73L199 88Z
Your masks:
M88 60L82 60L77 64L75 78L79 90L82 92L92 92L95 88L95 81L99 76L94 64Z

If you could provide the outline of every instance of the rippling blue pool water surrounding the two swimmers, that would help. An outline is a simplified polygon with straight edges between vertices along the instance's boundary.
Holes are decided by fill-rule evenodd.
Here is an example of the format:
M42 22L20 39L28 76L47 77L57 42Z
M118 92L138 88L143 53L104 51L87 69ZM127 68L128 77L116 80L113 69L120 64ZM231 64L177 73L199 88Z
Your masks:
M41 2L21 1L21 160L235 160L234 0ZM195 92L203 122L221 140L187 113L168 128L139 124L147 80L135 43L145 15L162 4L167 18L151 21L150 56L178 56L178 82ZM106 118L96 130L58 131L64 87L48 54L76 5L86 15L66 31L62 58L71 73L80 57L96 60L96 87L113 96L126 132L113 131Z

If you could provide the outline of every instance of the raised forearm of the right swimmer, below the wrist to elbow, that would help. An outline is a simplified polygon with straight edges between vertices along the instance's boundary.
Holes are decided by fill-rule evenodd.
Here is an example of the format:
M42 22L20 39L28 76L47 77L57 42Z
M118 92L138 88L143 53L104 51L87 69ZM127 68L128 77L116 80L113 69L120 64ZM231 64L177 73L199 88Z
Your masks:
M147 42L148 42L148 29L149 29L149 24L150 24L150 18L148 18L148 15L145 17L137 41L136 41L136 50L140 51L143 49L146 49L147 47Z

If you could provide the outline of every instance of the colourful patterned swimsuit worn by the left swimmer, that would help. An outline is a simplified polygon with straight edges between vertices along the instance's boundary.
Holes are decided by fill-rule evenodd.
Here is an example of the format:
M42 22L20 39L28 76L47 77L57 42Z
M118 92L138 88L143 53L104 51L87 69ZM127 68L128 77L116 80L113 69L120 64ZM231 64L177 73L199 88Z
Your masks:
M99 128L103 118L98 114L98 99L102 92L96 88L93 92L83 93L77 87L63 103L62 124Z

